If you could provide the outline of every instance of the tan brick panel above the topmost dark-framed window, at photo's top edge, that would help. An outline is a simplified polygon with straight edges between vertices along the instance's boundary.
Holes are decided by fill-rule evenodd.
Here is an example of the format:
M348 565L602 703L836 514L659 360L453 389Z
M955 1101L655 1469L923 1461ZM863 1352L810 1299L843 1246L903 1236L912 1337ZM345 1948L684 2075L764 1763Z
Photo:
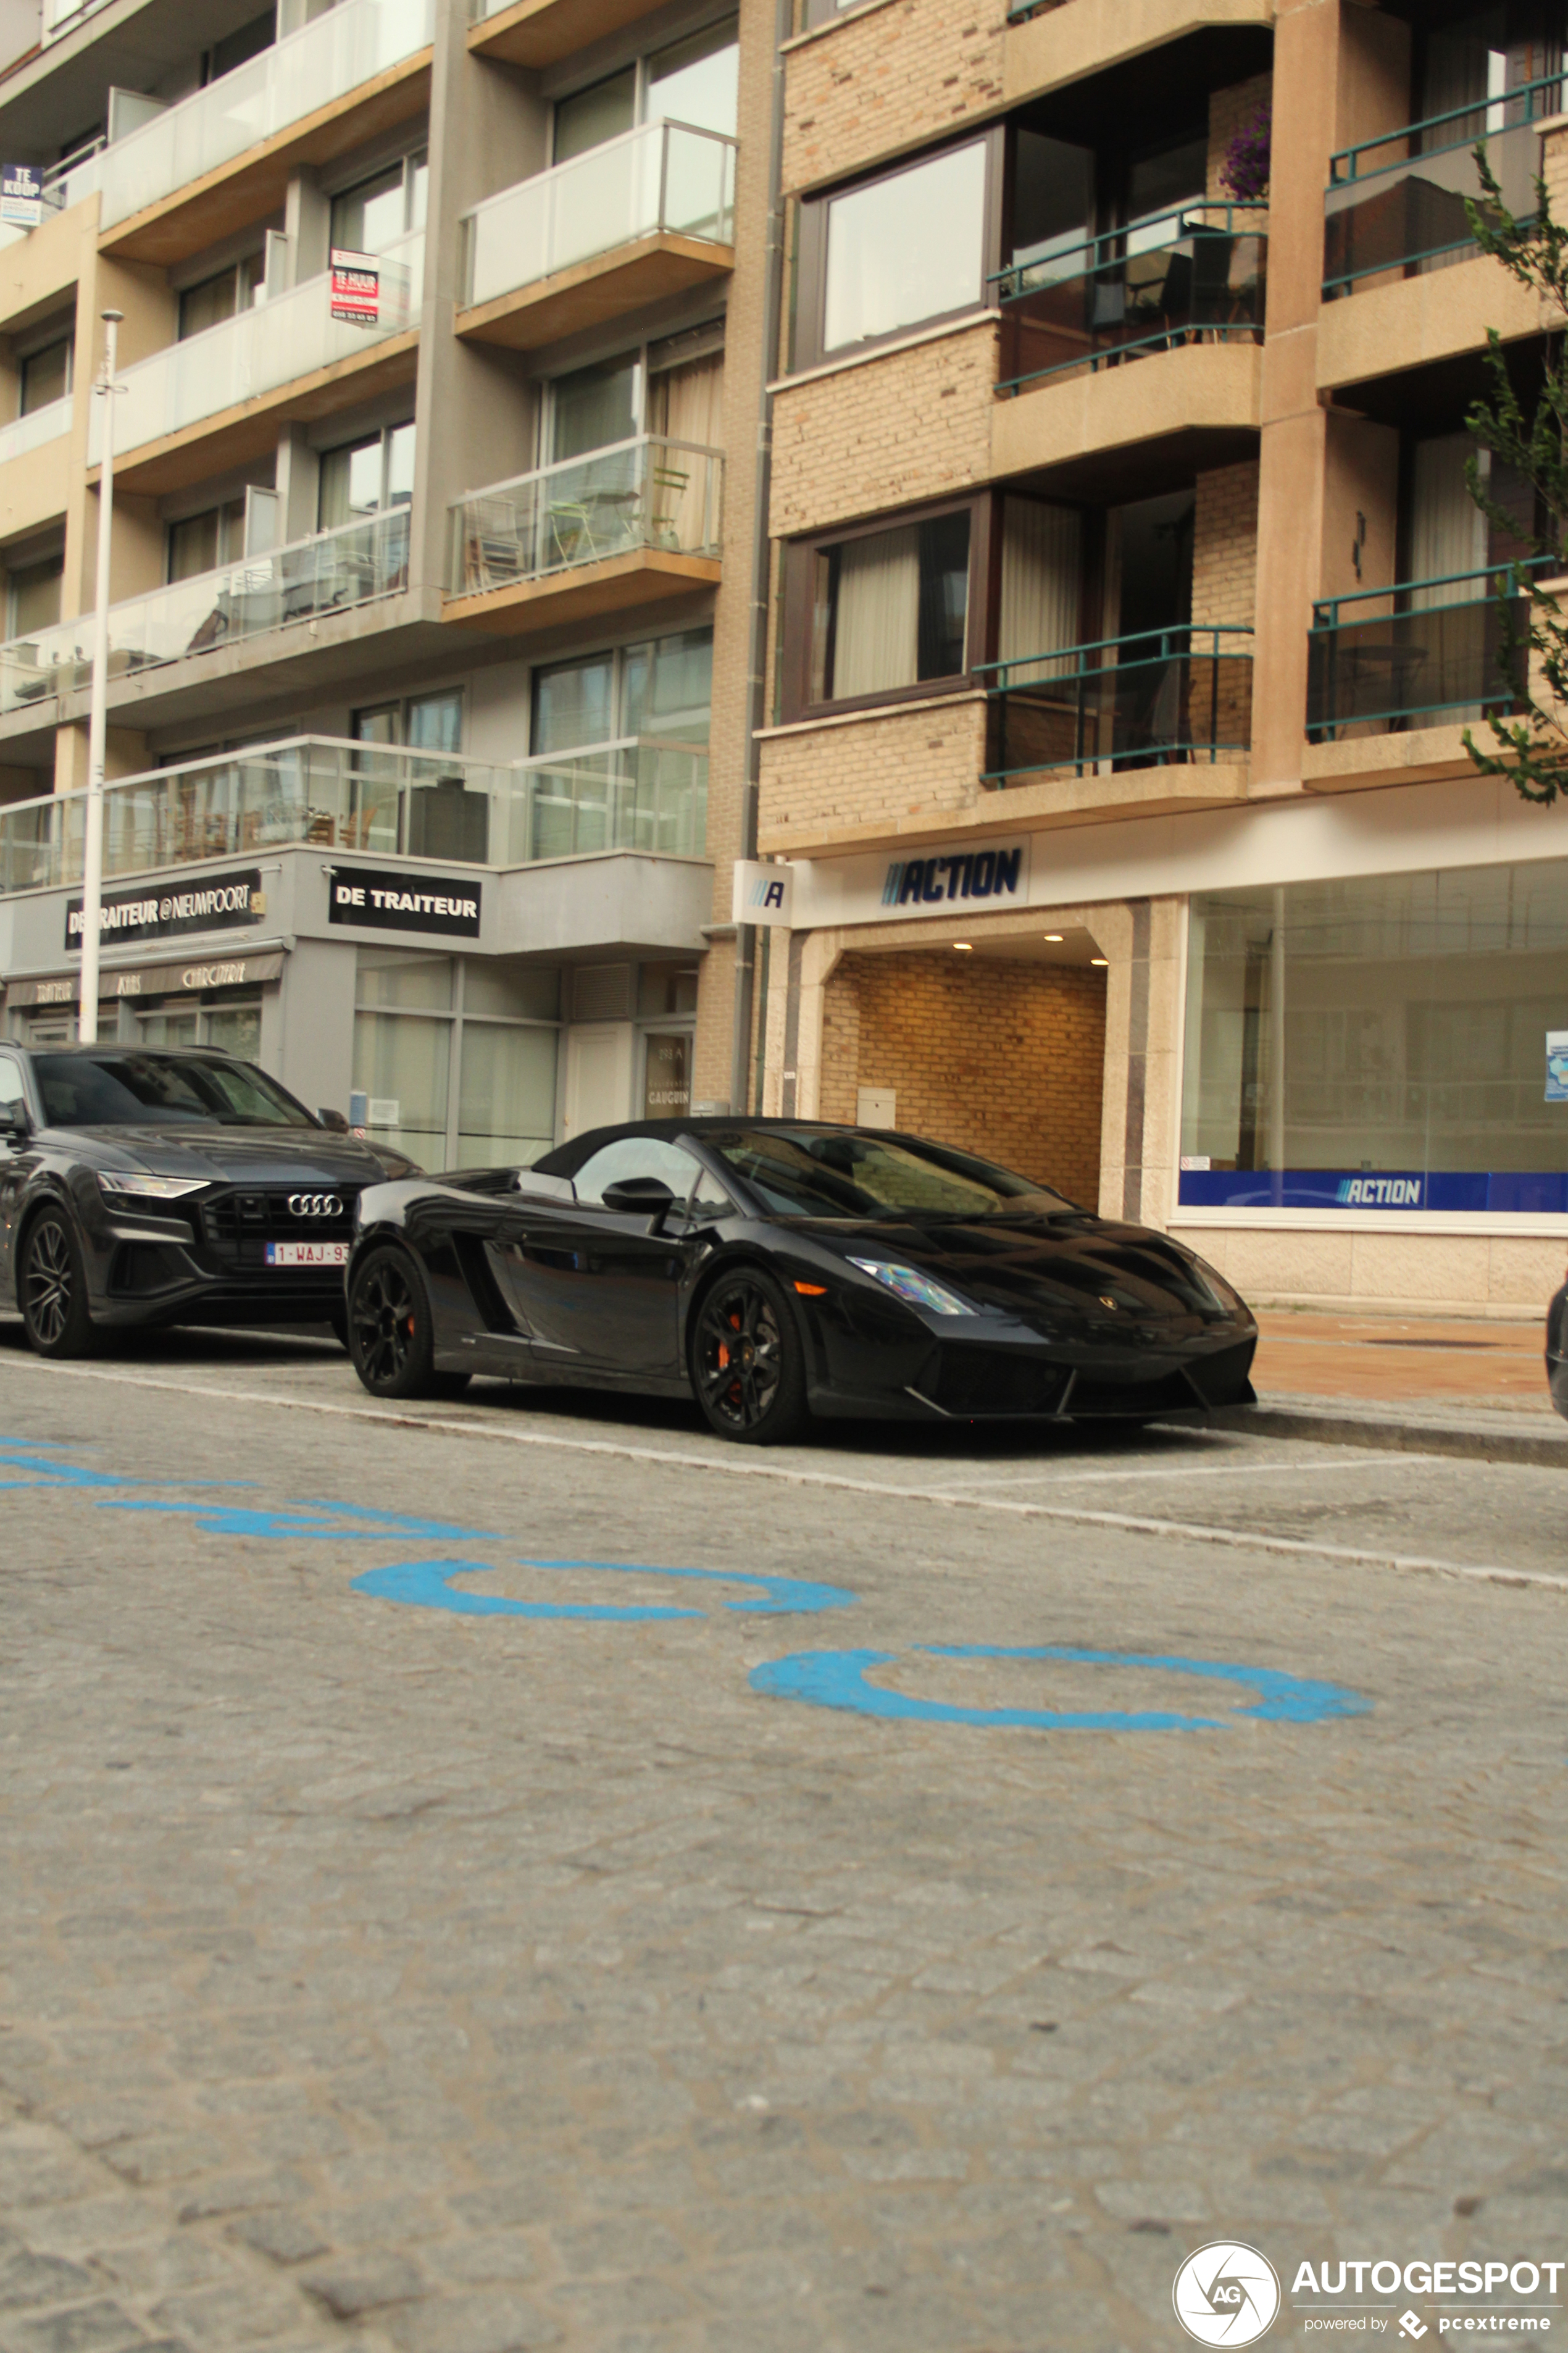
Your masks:
M810 188L1001 106L1005 0L885 0L789 59L784 188Z

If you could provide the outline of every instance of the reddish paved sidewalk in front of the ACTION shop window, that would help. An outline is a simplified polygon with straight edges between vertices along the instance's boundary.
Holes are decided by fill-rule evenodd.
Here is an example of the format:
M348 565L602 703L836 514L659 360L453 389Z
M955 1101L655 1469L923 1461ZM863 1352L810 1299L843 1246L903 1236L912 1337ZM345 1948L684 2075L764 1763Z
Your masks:
M1234 1428L1568 1471L1540 1315L1504 1325L1262 1308L1257 1327L1257 1405L1224 1417Z

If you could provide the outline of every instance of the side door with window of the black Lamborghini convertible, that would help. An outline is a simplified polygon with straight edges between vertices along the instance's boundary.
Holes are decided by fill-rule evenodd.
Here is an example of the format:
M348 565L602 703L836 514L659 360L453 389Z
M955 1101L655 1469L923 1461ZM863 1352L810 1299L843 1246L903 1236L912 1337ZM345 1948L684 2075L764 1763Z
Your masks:
M662 1231L645 1212L605 1207L605 1186L657 1176L676 1198ZM690 1254L683 1207L699 1162L657 1136L619 1136L572 1179L577 1200L506 1205L499 1273L539 1367L624 1379L678 1379L680 1275Z

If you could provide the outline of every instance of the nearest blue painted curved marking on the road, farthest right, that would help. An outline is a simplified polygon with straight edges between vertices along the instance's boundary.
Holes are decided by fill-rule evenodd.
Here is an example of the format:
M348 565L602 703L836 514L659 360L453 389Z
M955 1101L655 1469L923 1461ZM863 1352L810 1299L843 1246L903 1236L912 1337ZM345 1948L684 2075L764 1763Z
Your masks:
M1163 1659L1121 1649L1069 1649L1031 1645L1003 1649L994 1642L921 1642L921 1659L1050 1659L1071 1666L1140 1666L1163 1675L1208 1675L1217 1682L1257 1692L1250 1708L1224 1715L1177 1715L1163 1708L961 1708L944 1699L911 1699L890 1692L866 1675L876 1666L895 1666L892 1649L798 1649L789 1659L768 1659L751 1671L751 1689L770 1699L803 1699L815 1708L845 1708L855 1715L878 1715L923 1725L991 1725L1024 1732L1222 1732L1229 1720L1316 1725L1342 1715L1368 1715L1373 1701L1340 1682L1311 1682L1281 1675L1271 1666L1231 1666L1224 1659Z

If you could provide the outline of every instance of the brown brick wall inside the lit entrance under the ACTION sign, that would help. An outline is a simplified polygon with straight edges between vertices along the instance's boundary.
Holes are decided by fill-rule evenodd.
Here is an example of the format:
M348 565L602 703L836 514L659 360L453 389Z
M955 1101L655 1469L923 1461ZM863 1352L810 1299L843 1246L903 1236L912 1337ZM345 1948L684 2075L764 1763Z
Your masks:
M897 1089L897 1125L1099 1202L1104 974L1078 965L845 955L822 1024L822 1118Z

